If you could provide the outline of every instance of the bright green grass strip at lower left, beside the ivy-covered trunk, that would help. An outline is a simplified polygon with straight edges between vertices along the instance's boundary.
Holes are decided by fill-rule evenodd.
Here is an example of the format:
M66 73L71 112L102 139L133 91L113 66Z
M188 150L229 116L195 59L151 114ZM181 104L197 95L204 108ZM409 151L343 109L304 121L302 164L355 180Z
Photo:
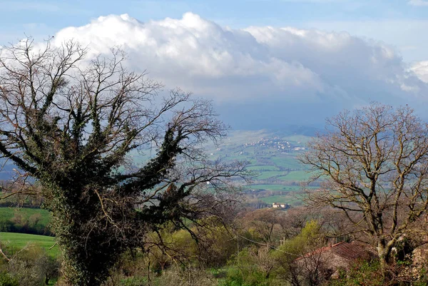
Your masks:
M22 249L29 244L39 245L46 250L46 253L53 257L58 257L59 248L54 246L55 241L51 236L44 235L27 235L25 233L0 233L0 242L11 249ZM51 250L49 248L52 247Z

